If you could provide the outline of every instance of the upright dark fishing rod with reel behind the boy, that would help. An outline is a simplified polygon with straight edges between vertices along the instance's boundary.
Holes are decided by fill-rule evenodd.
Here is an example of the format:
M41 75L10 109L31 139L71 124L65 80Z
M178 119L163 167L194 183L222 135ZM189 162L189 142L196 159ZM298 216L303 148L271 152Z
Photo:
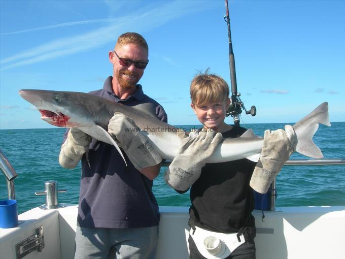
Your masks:
M242 109L246 111L246 114L251 114L252 116L256 115L256 108L252 106L249 111L246 110L245 105L239 98L241 95L237 92L237 82L236 82L236 69L235 69L235 57L232 50L231 42L231 31L230 31L230 16L229 16L229 6L228 0L225 0L226 16L224 20L228 25L228 38L229 38L229 64L230 64L230 82L231 82L231 96L230 96L230 107L226 113L226 116L231 115L233 117L233 122L236 126L239 126L239 115L242 112Z

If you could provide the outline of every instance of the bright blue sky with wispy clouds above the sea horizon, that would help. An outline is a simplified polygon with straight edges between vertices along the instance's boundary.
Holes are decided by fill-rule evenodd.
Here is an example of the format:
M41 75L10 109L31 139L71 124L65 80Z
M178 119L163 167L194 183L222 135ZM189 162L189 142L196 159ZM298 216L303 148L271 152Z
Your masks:
M1 129L53 127L18 90L101 88L126 31L149 44L140 83L170 124L198 124L189 98L198 71L230 83L223 0L1 0L0 10ZM229 0L229 12L238 92L257 108L241 122L296 122L322 102L345 121L345 1Z

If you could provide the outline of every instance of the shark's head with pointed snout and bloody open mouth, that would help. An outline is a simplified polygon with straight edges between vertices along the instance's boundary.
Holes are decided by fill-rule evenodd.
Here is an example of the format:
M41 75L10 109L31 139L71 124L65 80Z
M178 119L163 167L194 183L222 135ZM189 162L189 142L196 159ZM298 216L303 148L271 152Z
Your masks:
M41 119L58 127L82 127L88 124L87 93L49 90L19 90L26 101L36 106Z

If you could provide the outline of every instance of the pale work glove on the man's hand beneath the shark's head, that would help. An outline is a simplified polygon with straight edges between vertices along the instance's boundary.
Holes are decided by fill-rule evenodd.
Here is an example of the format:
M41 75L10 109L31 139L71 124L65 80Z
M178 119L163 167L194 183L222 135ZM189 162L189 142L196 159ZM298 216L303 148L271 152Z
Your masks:
M92 138L78 128L71 128L62 144L59 163L63 168L75 168L83 154L89 151Z

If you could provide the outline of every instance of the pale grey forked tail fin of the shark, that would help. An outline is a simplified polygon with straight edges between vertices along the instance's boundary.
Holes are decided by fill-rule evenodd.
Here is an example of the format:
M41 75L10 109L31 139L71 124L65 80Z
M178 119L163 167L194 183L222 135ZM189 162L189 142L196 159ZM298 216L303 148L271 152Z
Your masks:
M313 142L313 136L319 128L319 123L331 125L326 102L292 126L297 136L296 151L298 153L313 158L323 158L320 148Z

